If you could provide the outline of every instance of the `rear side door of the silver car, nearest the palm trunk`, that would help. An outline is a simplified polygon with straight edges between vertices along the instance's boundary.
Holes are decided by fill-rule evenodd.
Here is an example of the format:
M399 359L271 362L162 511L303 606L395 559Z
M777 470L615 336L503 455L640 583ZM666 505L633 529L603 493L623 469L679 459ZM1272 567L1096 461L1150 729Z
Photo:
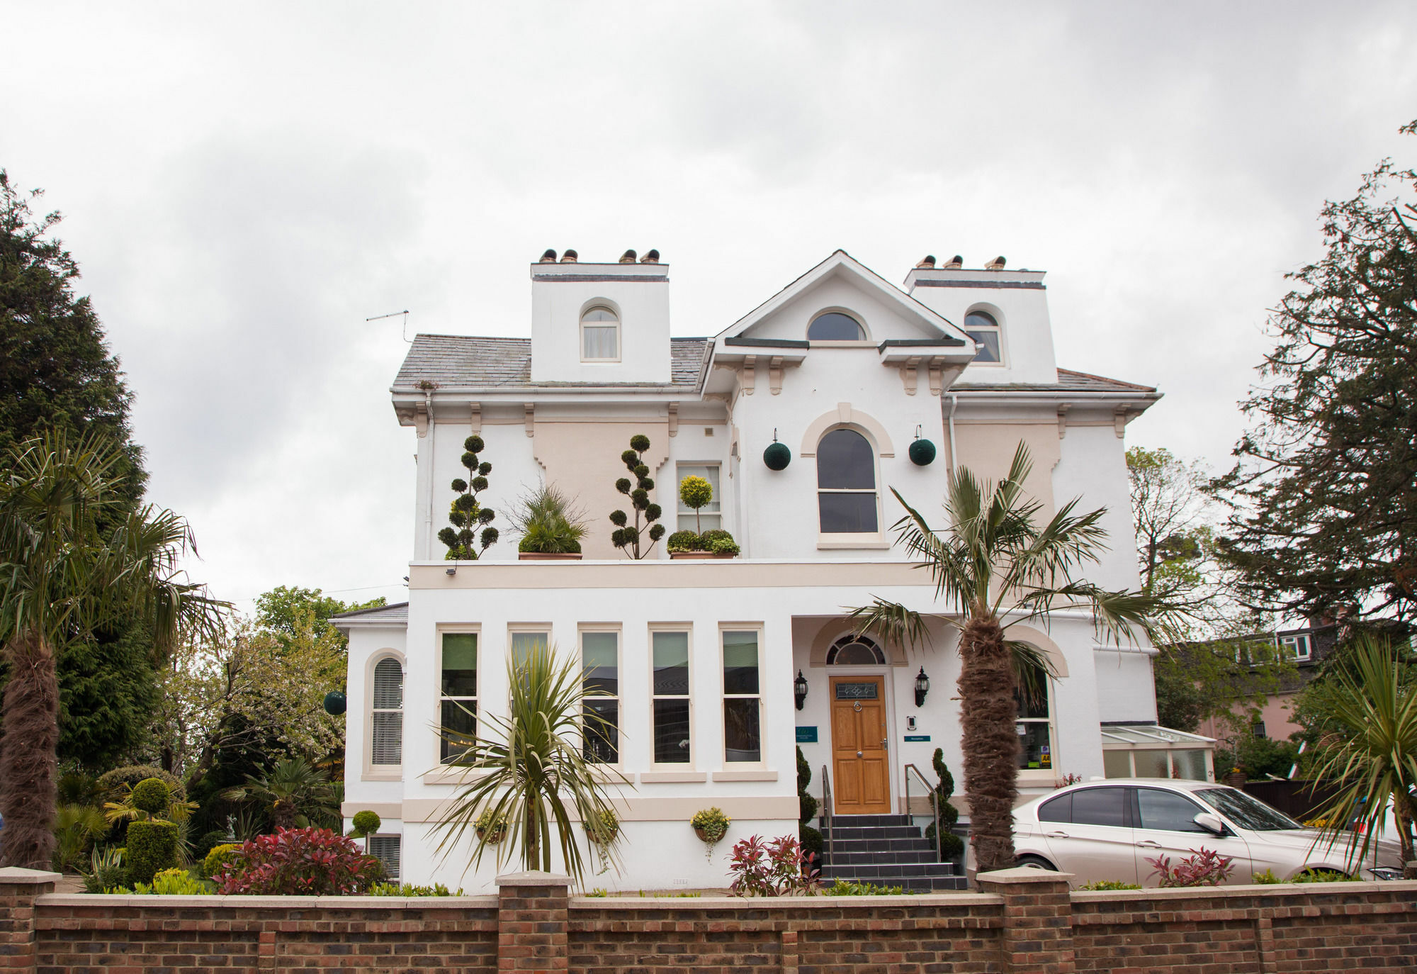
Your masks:
M1039 807L1039 828L1050 858L1081 886L1102 879L1136 882L1127 788L1078 788Z

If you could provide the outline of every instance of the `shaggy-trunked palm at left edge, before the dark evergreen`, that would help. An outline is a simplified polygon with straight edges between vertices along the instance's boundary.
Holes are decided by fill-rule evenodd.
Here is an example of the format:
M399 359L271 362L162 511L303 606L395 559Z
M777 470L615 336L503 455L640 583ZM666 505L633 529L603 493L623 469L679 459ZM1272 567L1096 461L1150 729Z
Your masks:
M10 665L0 739L0 865L44 869L54 852L55 659L103 625L146 620L164 651L225 604L186 581L187 523L152 506L123 512L119 451L102 437L50 432L0 461L0 645ZM101 519L116 520L101 530ZM196 549L193 549L196 550Z

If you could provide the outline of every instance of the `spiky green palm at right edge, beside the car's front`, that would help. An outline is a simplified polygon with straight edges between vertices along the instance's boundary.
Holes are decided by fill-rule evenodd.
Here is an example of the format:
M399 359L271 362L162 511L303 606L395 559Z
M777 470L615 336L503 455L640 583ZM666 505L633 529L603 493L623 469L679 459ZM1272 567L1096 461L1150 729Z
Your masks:
M1413 819L1417 818L1417 685L1413 665L1370 634L1360 635L1323 681L1322 709L1332 732L1314 777L1338 781L1328 808L1316 812L1323 838L1346 839L1352 863L1366 859L1391 802L1403 876L1417 879ZM1406 678L1406 679L1404 679ZM1318 689L1318 688L1316 688ZM1363 828L1345 832L1355 819Z

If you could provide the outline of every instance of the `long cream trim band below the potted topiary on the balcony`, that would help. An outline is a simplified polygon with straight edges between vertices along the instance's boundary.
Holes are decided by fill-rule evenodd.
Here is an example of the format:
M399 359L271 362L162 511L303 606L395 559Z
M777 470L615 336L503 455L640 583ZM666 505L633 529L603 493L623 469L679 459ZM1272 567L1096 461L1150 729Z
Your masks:
M910 586L934 591L930 576L913 561L459 561L415 564L411 588L820 588Z

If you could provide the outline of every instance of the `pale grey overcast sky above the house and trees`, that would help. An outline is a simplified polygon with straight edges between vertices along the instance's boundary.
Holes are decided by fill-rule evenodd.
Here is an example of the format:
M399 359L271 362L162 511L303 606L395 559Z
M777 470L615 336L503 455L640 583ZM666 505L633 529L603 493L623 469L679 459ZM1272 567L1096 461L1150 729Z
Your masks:
M998 11L1007 11L999 14ZM0 3L0 167L65 214L215 594L401 600L424 332L657 247L710 335L840 247L1049 271L1058 364L1216 466L1316 214L1417 160L1411 3Z

